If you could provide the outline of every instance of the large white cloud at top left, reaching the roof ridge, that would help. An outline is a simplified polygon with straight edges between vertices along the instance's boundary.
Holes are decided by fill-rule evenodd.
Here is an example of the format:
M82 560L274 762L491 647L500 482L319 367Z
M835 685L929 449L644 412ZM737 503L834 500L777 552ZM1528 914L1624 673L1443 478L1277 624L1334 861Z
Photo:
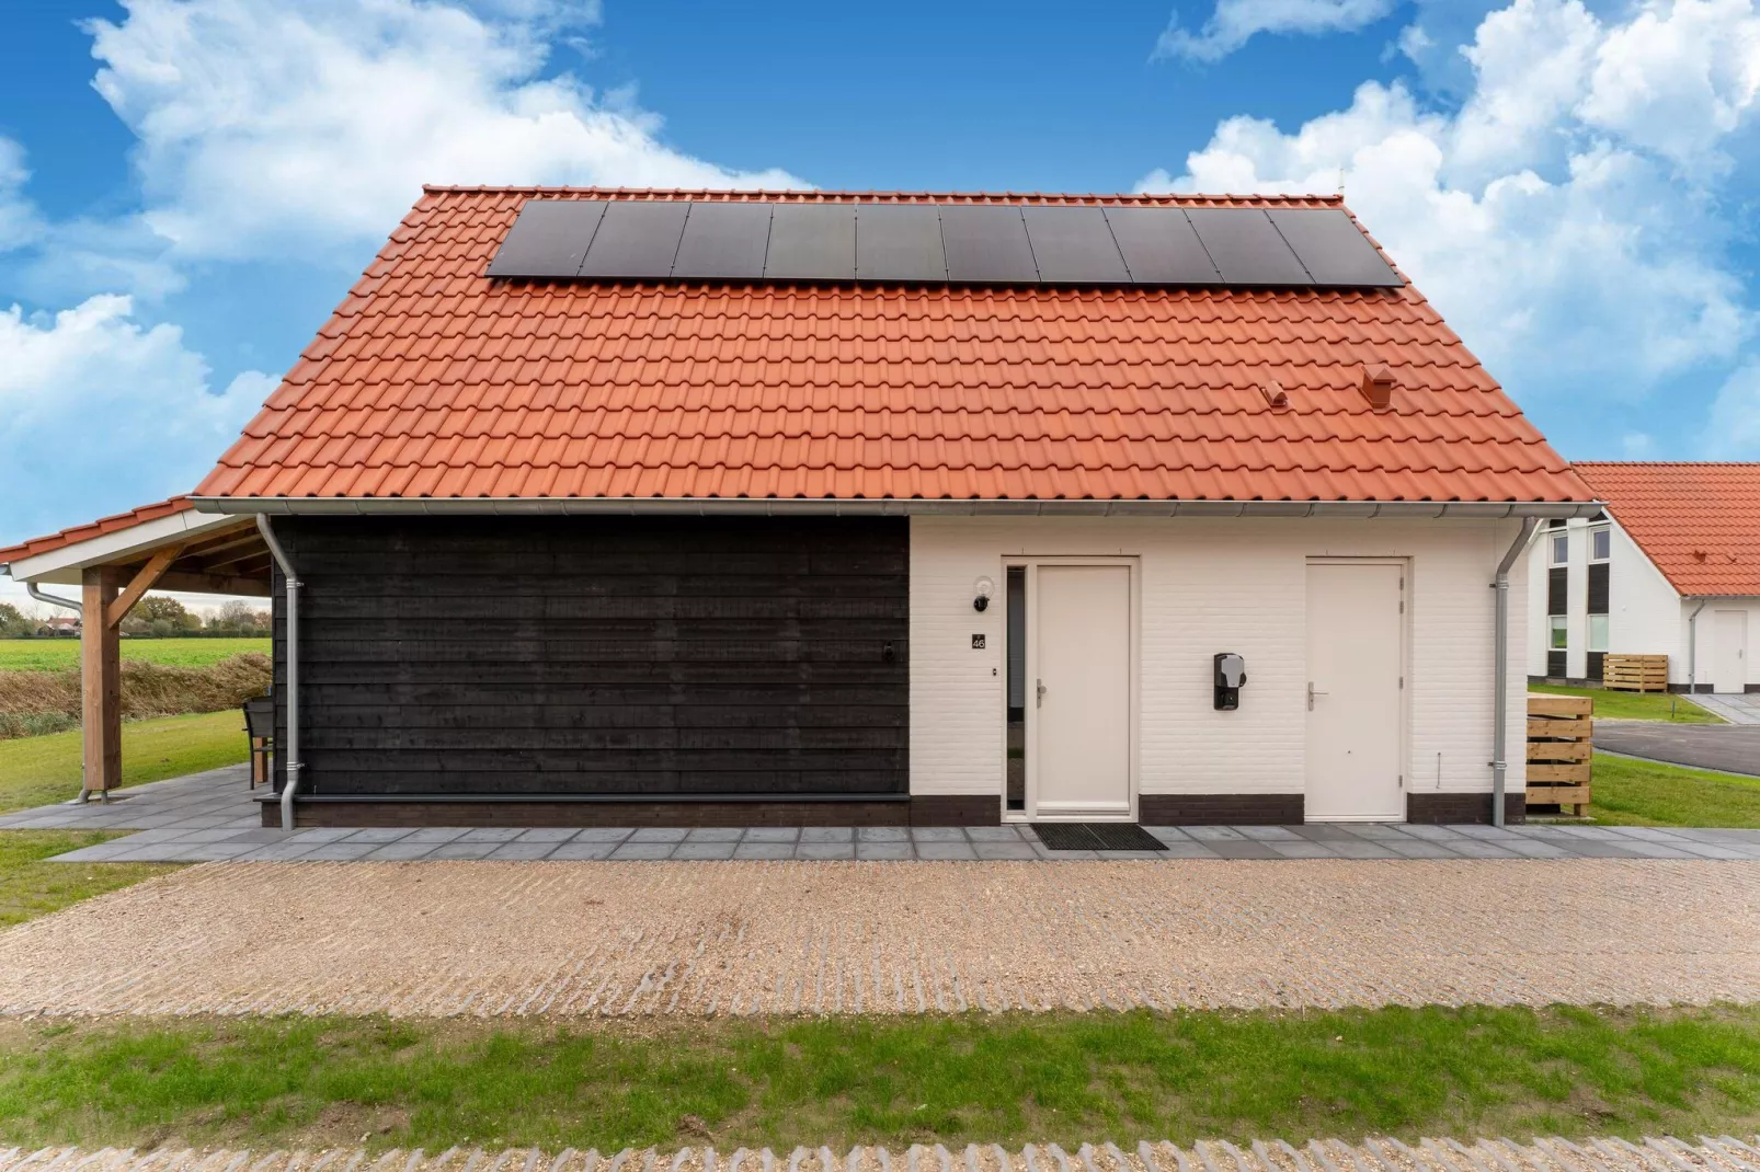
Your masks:
M180 255L384 239L422 183L803 187L665 146L660 120L570 74L547 37L595 5L125 0L92 21L100 95L139 136L146 220Z

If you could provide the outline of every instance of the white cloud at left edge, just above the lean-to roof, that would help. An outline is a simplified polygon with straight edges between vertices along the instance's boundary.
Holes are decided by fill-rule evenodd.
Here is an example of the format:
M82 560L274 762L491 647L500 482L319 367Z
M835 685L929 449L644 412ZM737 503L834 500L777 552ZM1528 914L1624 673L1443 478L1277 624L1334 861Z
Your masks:
M132 315L121 296L0 313L0 544L195 487L275 389L245 371L213 392L176 326Z

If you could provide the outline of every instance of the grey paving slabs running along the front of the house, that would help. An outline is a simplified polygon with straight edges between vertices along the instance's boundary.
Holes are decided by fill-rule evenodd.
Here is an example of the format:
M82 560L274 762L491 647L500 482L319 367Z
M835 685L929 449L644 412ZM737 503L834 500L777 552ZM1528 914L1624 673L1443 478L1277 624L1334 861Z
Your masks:
M260 794L262 790L257 790ZM65 862L412 862L442 859L1760 859L1760 831L1531 824L1146 827L1165 852L1049 850L1026 827L264 829L245 767L130 790L109 804L40 806L0 829L137 831L60 855Z

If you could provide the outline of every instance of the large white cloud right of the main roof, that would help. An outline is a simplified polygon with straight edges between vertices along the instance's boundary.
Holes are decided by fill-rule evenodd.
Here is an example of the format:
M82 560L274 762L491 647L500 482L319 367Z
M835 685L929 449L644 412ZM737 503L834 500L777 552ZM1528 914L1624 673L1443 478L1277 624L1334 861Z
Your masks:
M1463 49L1475 86L1459 111L1366 83L1348 109L1292 134L1230 118L1183 174L1156 171L1142 187L1332 192L1343 167L1352 209L1519 398L1640 399L1660 380L1734 363L1755 317L1723 257L1721 169L1681 165L1718 136L1695 123L1690 148L1653 146L1667 118L1639 95L1683 118L1691 88L1676 79L1707 79L1691 90L1697 109L1727 111L1718 125L1734 132L1753 77L1695 72L1684 51L1632 42L1691 40L1700 63L1723 62L1711 46L1751 44L1756 19L1749 4L1679 0L1609 25L1575 0L1515 0Z

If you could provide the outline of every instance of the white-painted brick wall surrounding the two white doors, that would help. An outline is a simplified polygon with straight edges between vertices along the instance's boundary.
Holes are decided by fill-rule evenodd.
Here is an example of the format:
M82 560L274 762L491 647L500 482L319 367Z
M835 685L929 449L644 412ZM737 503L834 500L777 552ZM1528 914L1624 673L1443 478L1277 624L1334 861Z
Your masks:
M1306 561L1406 558L1410 769L1417 792L1489 792L1491 575L1515 521L912 517L910 764L913 794L1000 794L1003 560L1139 560L1142 794L1302 788ZM1526 560L1510 590L1510 778L1522 785ZM973 582L998 586L972 609ZM986 649L972 649L972 635ZM1241 707L1211 707L1211 655L1246 656Z

